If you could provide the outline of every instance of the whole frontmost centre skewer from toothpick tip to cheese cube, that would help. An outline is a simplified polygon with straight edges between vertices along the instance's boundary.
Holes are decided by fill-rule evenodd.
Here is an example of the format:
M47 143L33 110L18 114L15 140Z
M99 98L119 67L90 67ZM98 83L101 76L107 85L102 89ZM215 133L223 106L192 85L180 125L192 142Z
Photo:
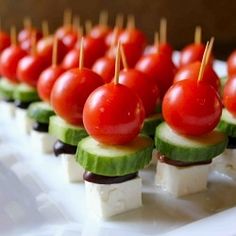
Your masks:
M138 171L151 160L153 141L138 135L145 116L140 98L119 83L120 44L114 82L88 97L83 122L90 137L78 144L77 161L85 168L87 206L107 218L142 205Z

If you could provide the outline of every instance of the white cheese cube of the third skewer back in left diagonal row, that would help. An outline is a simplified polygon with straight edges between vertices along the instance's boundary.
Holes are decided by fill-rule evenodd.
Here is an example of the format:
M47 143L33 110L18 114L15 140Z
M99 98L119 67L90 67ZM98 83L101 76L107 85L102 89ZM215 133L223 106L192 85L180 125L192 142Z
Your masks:
M33 148L41 153L51 153L56 142L56 139L49 133L38 132L36 130L31 130L30 139Z

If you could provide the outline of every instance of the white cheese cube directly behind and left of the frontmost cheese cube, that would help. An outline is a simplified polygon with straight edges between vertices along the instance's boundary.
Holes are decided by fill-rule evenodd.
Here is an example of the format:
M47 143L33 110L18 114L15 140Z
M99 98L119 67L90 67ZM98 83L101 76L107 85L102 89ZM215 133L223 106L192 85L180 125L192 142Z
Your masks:
M75 160L75 155L60 154L66 179L69 182L83 181L84 168Z

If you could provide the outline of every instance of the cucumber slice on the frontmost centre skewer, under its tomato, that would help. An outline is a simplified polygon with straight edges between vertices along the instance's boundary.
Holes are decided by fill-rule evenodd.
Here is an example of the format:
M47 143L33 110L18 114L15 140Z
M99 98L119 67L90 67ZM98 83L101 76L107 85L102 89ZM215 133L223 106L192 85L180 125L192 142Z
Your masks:
M87 137L79 142L76 160L94 174L122 176L144 168L151 161L152 150L152 139L144 135L127 145L106 145Z

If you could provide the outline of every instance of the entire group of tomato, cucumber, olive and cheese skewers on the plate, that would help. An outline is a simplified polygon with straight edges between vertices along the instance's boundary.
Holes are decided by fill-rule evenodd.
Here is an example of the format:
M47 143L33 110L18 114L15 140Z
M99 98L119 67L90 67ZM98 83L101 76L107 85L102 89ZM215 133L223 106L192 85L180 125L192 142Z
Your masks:
M27 22L18 40L14 28L11 40L6 34L0 55L1 112L30 133L35 149L53 150L70 181L85 180L89 208L101 217L141 205L138 171L152 157L156 183L175 196L205 189L221 153L236 167L235 55L222 90L214 40L205 45L201 28L175 65L165 20L147 47L132 17L123 29L119 16L113 30L105 19L87 22L83 36L67 13L53 36L44 23L41 39Z

